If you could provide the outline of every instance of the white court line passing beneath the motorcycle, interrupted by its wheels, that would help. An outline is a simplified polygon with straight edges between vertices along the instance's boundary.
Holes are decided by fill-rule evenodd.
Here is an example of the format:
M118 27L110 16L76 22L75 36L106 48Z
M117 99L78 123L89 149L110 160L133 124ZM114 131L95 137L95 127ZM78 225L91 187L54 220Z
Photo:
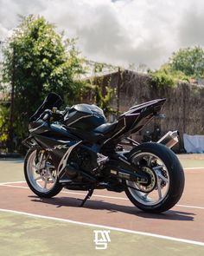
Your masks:
M29 189L29 187L14 186L14 185L9 185L9 184L3 184L2 186L3 186L3 187L16 187L16 188ZM61 191L61 193L63 193L63 194L78 194L78 195L86 196L86 193L80 193L80 192ZM101 198L107 198L107 199L128 200L128 201L129 201L128 198L118 197L118 196L109 196L109 195L102 195L102 194L92 194L92 196L101 197ZM201 209L201 210L204 210L204 207L195 207L195 206L188 206L188 205L175 205L175 207L185 207L185 208L194 208L194 209Z

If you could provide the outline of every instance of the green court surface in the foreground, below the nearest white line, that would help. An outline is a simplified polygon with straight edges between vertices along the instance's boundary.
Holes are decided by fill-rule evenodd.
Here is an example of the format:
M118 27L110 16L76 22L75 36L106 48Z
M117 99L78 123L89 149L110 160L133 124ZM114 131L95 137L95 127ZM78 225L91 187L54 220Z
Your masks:
M22 255L204 255L204 246L111 230L107 249L96 250L93 230L60 220L0 212L0 252ZM104 229L103 229L104 230Z

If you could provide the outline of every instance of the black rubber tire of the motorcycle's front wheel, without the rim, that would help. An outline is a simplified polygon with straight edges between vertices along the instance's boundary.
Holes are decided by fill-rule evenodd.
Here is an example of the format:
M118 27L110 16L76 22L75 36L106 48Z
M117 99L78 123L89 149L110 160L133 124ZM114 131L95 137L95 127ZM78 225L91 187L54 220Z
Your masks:
M29 188L33 191L33 193L35 193L37 196L41 197L41 198L51 198L54 197L55 195L59 194L61 192L62 186L61 184L56 181L54 184L54 187L52 187L50 190L48 190L48 192L41 192L38 191L37 189L35 189L35 187L32 185L32 182L29 181L29 175L28 175L28 171L27 171L27 167L28 167L28 161L29 161L29 157L30 155L36 151L39 148L30 148L28 153L25 156L25 160L24 160L24 176L25 176L25 180L29 186Z

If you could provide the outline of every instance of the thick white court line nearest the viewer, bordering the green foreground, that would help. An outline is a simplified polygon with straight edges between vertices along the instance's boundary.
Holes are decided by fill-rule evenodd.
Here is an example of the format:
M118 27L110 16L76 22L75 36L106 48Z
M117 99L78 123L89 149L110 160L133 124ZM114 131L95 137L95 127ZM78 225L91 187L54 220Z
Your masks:
M199 241L195 241L195 240L179 239L179 238L174 238L174 237L161 235L161 234L156 234L156 233L139 232L139 231L124 229L124 228L119 228L119 227L103 226L103 225L80 222L80 221L75 221L75 220L66 220L66 219L61 219L61 218L49 217L49 216L39 215L39 214L34 214L34 213L13 211L13 210L2 209L2 208L0 208L0 212L23 214L23 215L26 215L26 216L40 218L40 219L57 220L57 221L62 221L62 222L67 222L67 223L72 223L72 224L78 224L78 225L82 225L82 226L99 227L99 228L111 229L111 230L118 231L118 232L134 233L134 234L139 234L139 235L143 235L143 236L150 236L150 237L154 237L154 238L158 238L158 239L163 239L163 240L172 240L172 241L175 241L175 242L182 242L182 243L192 244L192 245L196 245L196 246L204 246L203 242L199 242Z

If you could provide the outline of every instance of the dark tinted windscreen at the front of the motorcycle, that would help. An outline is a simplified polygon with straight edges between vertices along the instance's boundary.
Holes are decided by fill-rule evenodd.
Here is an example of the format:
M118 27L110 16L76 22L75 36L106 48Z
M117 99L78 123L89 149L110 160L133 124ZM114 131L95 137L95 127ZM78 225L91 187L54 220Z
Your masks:
M35 114L30 117L29 121L35 121L45 109L60 108L62 102L61 96L49 93L41 106L37 108Z

